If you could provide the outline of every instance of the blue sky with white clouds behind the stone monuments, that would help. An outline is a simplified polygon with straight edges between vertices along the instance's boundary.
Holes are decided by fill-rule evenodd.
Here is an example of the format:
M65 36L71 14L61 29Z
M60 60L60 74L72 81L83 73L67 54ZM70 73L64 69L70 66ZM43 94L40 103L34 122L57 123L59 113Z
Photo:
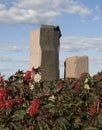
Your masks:
M102 71L102 0L0 0L0 72L29 69L30 32L59 25L60 73L71 56L89 57L89 73Z

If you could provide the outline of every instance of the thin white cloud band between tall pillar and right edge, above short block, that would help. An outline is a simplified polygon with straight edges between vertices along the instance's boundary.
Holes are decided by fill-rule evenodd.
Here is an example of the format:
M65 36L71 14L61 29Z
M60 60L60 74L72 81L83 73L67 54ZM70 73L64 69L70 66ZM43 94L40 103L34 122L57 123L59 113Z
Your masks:
M102 51L102 38L62 37L61 50L68 52L94 50Z

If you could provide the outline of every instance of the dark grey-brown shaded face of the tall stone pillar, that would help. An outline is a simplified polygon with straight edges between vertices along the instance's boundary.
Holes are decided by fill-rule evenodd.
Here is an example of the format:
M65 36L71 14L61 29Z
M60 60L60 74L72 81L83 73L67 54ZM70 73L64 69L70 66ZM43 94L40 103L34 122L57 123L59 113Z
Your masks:
M60 29L51 25L42 25L40 29L40 46L42 50L42 78L59 79Z

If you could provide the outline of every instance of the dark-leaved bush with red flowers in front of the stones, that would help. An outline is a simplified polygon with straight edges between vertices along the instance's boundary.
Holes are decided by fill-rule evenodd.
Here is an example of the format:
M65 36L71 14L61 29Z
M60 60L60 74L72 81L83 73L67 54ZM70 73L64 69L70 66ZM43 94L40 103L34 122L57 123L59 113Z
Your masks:
M102 72L35 82L37 73L0 76L0 130L102 129Z

